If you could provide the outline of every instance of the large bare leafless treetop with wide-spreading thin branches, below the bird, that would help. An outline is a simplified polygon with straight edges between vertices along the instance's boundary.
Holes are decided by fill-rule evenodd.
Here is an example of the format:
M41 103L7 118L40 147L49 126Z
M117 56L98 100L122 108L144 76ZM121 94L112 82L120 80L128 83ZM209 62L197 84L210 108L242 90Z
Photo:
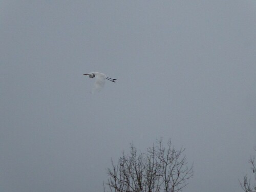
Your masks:
M193 176L193 166L187 165L183 155L185 148L176 151L170 139L166 148L159 140L146 153L138 154L133 144L130 149L129 155L123 153L117 165L112 160L108 168L106 186L111 192L182 191Z

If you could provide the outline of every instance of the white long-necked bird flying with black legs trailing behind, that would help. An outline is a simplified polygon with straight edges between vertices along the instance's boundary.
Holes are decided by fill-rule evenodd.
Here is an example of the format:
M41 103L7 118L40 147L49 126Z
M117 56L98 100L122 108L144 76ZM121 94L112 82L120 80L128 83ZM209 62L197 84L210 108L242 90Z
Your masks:
M96 93L96 92L99 92L100 90L102 90L102 88L104 87L104 84L105 84L105 79L108 79L112 82L116 82L115 81L116 79L107 77L104 73L91 72L91 73L87 73L87 74L83 74L83 75L89 75L90 78L96 77L96 81L94 83L91 93Z

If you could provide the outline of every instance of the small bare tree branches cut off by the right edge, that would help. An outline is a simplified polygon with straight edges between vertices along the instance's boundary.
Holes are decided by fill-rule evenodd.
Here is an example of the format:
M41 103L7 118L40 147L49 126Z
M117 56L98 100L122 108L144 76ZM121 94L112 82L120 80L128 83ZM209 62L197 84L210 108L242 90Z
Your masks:
M254 151L256 151L256 147L254 147ZM251 164L251 169L254 176L254 181L255 181L254 186L251 187L250 179L248 179L247 175L244 176L243 182L239 181L242 189L245 192L256 192L256 163L254 160L255 160L255 157L250 157L250 160L248 161Z

